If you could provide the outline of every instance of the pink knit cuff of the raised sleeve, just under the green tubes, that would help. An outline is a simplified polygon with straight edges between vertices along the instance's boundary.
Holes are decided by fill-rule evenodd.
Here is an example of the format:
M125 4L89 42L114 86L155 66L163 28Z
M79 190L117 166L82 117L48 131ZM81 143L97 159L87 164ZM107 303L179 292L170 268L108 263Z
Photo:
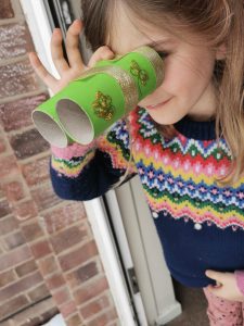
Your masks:
M76 142L74 142L65 148L59 148L59 147L51 146L51 152L55 158L68 161L72 158L84 156L89 150L95 148L95 143L97 143L97 141L93 140L91 143L86 145L86 146L76 143Z

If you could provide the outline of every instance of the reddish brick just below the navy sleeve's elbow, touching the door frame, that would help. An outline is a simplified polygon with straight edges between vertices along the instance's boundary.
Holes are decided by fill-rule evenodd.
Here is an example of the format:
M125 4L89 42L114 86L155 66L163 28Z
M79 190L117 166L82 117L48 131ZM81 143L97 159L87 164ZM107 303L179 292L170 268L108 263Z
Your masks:
M81 202L68 202L43 214L47 229L50 234L66 228L86 217Z

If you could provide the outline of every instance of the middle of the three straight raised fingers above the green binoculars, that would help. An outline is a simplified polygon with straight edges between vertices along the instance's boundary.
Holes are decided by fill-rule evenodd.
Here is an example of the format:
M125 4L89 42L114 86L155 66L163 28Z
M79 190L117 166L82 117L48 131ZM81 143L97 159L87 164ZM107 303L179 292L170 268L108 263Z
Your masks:
M62 33L60 28L55 28L51 38L51 53L52 60L59 72L60 76L69 70L67 61L64 59L63 48L62 48Z

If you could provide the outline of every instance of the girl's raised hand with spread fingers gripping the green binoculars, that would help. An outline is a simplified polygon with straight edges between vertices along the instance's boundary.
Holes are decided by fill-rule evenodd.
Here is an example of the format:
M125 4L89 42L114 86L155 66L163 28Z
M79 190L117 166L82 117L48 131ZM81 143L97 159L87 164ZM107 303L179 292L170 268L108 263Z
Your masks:
M52 76L40 62L35 52L29 53L29 61L42 82L56 93L64 88L69 82L79 77L86 70L95 65L100 60L110 60L114 58L114 53L108 47L104 46L99 48L91 57L88 66L84 64L80 51L79 51L79 34L82 30L82 23L76 20L68 28L66 35L66 51L68 62L64 59L62 49L62 34L60 28L55 28L51 38L51 54L53 63L60 74L60 79Z

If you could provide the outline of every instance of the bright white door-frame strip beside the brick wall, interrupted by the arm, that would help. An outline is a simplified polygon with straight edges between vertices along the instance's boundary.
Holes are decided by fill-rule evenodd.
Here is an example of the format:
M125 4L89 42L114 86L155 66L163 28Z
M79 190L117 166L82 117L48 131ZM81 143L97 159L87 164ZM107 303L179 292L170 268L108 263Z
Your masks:
M56 76L57 73L54 64L52 63L49 49L52 33L43 2L42 0L20 1L38 55L47 70ZM94 199L92 201L85 202L85 208L98 243L103 267L107 276L121 326L134 326L136 324L133 321L132 310L127 297L127 288L124 284L123 272L120 271L112 235L110 234L102 200Z

